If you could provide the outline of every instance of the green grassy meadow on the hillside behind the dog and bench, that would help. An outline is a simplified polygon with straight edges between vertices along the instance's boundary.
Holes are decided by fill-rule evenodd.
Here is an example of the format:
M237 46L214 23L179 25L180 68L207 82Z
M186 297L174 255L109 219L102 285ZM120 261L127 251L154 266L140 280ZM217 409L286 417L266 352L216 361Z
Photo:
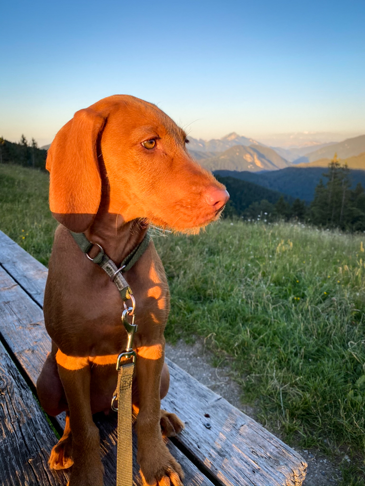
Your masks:
M48 175L0 165L0 229L47 264L55 226ZM154 242L171 290L166 339L204 338L264 426L364 484L365 235L221 220Z

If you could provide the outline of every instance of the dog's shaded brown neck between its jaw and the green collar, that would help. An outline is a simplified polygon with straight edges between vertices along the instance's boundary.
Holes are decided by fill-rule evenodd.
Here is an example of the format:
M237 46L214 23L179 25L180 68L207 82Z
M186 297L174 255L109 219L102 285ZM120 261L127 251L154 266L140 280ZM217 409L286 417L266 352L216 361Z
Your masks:
M127 255L145 237L148 224L142 219L133 219L127 223L120 214L110 213L102 206L85 235L93 243L98 243L107 253L109 258L118 266ZM91 250L93 258L97 254L97 248Z

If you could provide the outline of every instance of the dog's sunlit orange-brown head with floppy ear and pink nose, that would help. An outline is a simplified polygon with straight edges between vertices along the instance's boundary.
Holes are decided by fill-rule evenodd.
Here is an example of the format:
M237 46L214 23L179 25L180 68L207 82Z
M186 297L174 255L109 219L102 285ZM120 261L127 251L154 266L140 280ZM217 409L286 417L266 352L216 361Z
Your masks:
M177 231L219 218L229 194L188 154L186 134L156 105L126 95L77 111L47 156L50 207L64 226L91 226L108 192L108 212Z

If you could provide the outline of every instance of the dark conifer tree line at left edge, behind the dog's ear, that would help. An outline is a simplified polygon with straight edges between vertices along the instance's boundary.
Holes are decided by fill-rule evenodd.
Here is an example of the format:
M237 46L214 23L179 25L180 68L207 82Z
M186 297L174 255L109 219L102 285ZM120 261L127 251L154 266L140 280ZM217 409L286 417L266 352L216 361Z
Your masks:
M38 148L37 141L32 138L30 142L21 136L18 143L9 142L0 137L0 163L17 164L24 167L46 169L47 150Z

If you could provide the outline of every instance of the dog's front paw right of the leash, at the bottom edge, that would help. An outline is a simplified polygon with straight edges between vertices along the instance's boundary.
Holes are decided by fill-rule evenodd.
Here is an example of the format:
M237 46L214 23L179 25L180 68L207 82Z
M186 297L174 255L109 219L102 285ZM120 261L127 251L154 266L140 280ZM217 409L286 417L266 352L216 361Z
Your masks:
M154 448L153 454L146 454L145 457L138 460L143 486L183 486L183 469L164 443Z

